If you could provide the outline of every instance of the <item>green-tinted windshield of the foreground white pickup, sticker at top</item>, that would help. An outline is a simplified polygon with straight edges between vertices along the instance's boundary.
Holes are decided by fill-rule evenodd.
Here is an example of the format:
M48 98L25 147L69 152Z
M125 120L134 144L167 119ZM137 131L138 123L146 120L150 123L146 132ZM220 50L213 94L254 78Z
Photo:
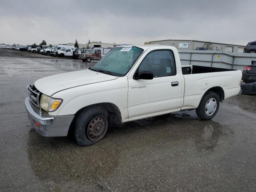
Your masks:
M90 70L115 76L124 76L142 54L143 49L132 47L116 47L106 54Z

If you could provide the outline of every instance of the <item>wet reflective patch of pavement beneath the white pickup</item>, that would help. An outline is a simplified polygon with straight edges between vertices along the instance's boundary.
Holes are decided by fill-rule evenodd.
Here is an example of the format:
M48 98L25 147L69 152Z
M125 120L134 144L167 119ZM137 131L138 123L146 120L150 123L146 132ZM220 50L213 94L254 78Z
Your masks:
M177 148L184 148L185 156L191 153L187 148L193 148L193 155L210 153L219 137L229 134L232 130L216 122L178 112L112 126L103 140L88 147L78 146L70 136L44 138L31 129L27 152L38 179L90 185L110 177L121 166L180 153Z

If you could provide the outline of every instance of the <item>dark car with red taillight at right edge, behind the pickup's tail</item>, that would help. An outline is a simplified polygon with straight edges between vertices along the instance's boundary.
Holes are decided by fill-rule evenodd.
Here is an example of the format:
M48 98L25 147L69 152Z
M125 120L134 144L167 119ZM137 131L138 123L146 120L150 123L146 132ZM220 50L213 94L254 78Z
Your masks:
M256 61L244 67L241 90L243 94L256 94Z

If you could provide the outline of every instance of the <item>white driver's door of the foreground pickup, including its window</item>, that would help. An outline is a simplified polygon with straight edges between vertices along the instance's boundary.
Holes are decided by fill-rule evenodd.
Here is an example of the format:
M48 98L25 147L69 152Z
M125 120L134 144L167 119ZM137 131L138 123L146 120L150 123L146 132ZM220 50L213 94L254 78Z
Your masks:
M152 80L136 80L142 71L154 74ZM142 60L135 74L128 77L129 119L178 110L181 102L182 77L177 74L171 50L155 50Z

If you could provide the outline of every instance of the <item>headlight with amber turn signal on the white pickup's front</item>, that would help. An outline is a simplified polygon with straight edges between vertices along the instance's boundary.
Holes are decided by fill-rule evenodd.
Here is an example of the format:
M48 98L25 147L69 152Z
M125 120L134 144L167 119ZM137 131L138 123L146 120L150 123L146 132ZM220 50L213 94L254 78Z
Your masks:
M45 94L42 94L40 98L40 107L48 112L55 111L61 103L62 99L51 98Z

